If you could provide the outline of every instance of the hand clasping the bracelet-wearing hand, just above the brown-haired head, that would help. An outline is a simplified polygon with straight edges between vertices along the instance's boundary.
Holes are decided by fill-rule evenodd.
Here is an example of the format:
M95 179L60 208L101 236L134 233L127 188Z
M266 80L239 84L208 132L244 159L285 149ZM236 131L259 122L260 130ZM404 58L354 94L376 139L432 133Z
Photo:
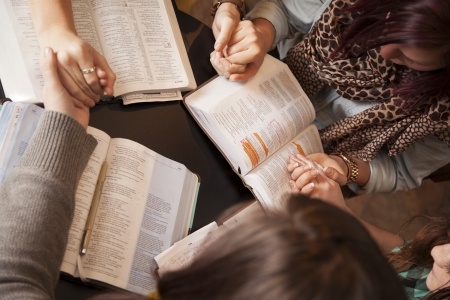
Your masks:
M291 172L289 183L293 193L321 199L345 211L350 211L345 204L339 184L328 178L316 162L300 154L292 155L287 169Z

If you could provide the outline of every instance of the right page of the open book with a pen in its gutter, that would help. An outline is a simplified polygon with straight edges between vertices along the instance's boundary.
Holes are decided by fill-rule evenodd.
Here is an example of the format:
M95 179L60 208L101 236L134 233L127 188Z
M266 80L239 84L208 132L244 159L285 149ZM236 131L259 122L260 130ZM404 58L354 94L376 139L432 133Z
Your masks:
M154 289L154 256L173 244L186 167L136 142L110 142L108 169L80 276L139 294ZM187 202L187 201L186 201Z

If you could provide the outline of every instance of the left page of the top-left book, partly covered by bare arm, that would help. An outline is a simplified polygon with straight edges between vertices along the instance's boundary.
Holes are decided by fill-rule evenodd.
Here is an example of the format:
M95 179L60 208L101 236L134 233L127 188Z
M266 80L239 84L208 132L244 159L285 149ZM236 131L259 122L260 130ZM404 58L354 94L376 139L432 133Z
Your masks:
M0 69L0 77L5 93L13 101L42 102L44 81L39 66L40 46L29 3L27 0L1 2L0 57L5 65ZM78 35L102 53L88 2L72 0L72 9Z

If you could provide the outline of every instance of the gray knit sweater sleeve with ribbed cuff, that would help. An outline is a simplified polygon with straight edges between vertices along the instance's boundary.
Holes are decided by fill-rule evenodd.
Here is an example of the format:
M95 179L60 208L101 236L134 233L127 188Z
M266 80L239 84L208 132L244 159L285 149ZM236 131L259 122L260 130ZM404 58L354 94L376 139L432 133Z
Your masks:
M52 299L75 190L97 141L45 111L20 164L0 186L0 298Z

